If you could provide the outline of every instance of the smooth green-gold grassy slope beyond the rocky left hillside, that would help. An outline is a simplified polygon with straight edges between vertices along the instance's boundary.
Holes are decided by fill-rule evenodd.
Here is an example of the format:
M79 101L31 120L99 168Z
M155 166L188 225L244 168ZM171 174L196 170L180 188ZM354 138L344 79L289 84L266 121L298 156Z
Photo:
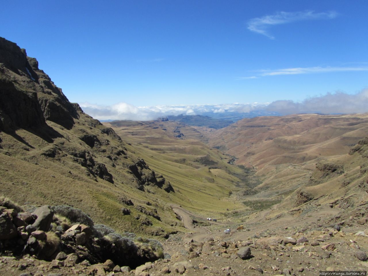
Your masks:
M160 120L115 121L112 127L128 149L162 172L175 188L177 204L203 216L228 216L226 209L244 208L236 200L249 190L248 170L229 164L231 156L201 142L201 132L184 123Z

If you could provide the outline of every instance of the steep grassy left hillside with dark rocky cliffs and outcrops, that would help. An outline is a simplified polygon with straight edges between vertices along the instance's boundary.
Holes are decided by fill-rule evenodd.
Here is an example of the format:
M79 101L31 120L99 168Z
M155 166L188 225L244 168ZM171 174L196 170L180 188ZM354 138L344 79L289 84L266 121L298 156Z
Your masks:
M169 181L3 38L0 89L2 194L20 205L71 205L120 232L177 231Z

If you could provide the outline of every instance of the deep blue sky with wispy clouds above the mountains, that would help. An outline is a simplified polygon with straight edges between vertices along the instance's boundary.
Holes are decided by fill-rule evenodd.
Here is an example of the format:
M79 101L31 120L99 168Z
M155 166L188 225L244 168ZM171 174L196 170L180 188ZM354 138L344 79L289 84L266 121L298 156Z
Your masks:
M361 102L367 12L365 0L13 0L1 5L0 36L91 112Z

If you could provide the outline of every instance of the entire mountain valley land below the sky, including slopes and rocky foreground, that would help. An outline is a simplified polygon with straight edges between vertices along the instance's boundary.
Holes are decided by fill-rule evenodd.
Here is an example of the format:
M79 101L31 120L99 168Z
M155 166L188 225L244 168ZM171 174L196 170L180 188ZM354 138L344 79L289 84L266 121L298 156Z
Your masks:
M4 276L367 268L367 114L101 123L24 49L0 50Z

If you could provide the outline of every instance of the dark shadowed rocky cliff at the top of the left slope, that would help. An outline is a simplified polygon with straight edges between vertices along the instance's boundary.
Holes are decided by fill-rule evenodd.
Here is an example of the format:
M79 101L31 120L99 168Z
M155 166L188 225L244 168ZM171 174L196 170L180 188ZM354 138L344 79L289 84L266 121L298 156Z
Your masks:
M70 129L77 109L17 44L0 38L0 130L36 128L53 121Z

